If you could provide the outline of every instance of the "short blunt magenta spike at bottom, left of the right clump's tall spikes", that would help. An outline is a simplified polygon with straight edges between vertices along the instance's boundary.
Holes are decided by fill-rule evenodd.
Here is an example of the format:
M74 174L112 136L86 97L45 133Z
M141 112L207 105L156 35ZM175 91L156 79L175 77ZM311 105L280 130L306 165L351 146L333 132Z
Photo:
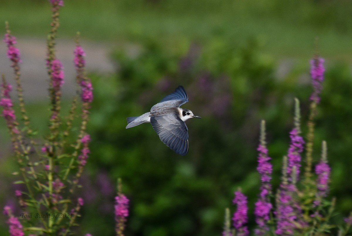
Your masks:
M245 224L248 221L247 211L247 197L238 190L235 192L235 198L233 199L233 204L237 205L237 210L233 213L232 221L233 226L236 229L238 236L249 235L249 231Z

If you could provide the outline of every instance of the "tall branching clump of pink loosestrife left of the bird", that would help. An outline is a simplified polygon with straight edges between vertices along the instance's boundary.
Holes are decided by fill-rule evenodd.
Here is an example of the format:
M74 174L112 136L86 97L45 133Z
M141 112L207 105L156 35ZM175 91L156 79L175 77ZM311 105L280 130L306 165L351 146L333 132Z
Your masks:
M61 86L64 83L63 66L56 56L55 39L59 26L59 9L63 0L50 0L52 9L51 31L47 41L46 67L50 78L49 133L44 141L38 141L27 116L23 88L20 77L20 50L16 39L6 23L4 42L7 56L14 72L15 88L18 95L20 115L15 114L11 98L12 86L5 76L1 81L2 116L6 120L19 171L14 174L19 180L16 184L25 187L16 190L22 212L15 216L9 206L4 207L8 216L11 235L68 235L72 226L77 225L77 217L83 206L83 199L76 197L75 190L89 156L90 136L86 132L93 88L85 75L85 52L78 43L73 61L76 67L77 95L73 98L68 117L61 115ZM73 121L77 117L77 107L81 100L81 120L78 132L74 132ZM20 117L20 118L19 118ZM21 122L22 121L22 122ZM72 143L72 138L74 143Z

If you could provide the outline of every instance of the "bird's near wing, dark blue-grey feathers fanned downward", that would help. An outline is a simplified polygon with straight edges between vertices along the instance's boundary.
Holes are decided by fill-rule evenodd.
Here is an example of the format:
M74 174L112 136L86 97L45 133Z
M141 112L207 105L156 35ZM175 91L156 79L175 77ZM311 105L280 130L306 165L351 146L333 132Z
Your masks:
M176 113L155 114L150 117L153 129L161 141L176 153L184 156L188 152L188 128Z

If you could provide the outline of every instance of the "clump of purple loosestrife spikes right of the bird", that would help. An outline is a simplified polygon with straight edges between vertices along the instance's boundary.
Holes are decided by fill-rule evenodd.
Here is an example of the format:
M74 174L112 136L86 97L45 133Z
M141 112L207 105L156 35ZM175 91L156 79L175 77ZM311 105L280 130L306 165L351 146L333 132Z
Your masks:
M335 198L326 199L329 191L330 166L327 159L327 144L322 141L320 161L315 165L313 172L313 139L314 118L317 105L320 103L320 93L324 80L324 60L315 56L310 62L312 65L313 93L310 96L310 114L308 117L307 141L301 136L300 105L295 99L294 128L290 131L290 144L288 153L283 157L282 178L275 197L271 189L272 165L268 155L265 141L265 122L260 126L260 139L258 147L258 167L262 182L258 200L254 206L254 215L257 227L256 235L331 235L336 226L329 222L335 205ZM301 154L306 151L303 178L300 179ZM247 222L247 198L237 191L234 203L237 211L234 213L233 226L230 229L229 210L226 209L225 228L222 235L248 235L244 226ZM345 218L345 227L340 227L339 235L346 235L352 225L352 213Z

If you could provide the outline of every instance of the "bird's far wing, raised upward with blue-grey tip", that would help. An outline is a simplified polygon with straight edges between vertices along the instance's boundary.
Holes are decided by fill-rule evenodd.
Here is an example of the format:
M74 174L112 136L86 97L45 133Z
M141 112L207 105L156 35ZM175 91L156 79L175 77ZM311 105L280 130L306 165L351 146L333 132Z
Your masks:
M166 95L160 103L152 106L150 111L157 110L162 107L180 107L181 105L188 102L188 95L184 90L183 86L178 86L175 92Z

